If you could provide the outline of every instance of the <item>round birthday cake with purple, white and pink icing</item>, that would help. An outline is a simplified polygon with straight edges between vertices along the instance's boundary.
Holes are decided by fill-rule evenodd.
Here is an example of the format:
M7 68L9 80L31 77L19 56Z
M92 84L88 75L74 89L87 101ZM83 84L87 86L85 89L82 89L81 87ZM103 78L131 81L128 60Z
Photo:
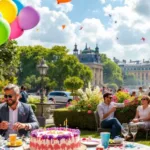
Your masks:
M78 129L37 129L30 136L30 150L79 150L80 146Z

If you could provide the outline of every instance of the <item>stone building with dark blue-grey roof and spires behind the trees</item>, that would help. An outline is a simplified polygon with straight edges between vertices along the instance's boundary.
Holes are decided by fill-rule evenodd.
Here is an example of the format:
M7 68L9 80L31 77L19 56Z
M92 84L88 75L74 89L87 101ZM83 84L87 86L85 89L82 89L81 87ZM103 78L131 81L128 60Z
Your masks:
M75 44L73 54L77 56L79 61L87 66L89 66L93 71L92 86L102 86L103 85L103 66L101 64L99 56L99 48L96 45L96 48L93 50L90 47L85 46L85 49L79 51L77 44Z

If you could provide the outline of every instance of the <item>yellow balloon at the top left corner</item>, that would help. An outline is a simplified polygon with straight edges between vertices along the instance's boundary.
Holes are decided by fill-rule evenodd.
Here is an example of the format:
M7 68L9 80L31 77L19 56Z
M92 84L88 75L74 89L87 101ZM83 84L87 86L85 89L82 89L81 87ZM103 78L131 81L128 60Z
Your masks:
M0 12L9 23L12 23L18 13L16 4L12 0L0 0Z

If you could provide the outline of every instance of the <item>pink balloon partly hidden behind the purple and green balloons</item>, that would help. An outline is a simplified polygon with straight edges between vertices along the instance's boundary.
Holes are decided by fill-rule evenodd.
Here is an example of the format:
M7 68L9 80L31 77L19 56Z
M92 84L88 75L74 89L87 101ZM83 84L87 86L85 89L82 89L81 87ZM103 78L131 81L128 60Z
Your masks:
M11 27L11 33L9 37L10 40L20 37L24 32L24 30L21 29L19 26L18 17L15 19L14 22L11 23L10 27Z

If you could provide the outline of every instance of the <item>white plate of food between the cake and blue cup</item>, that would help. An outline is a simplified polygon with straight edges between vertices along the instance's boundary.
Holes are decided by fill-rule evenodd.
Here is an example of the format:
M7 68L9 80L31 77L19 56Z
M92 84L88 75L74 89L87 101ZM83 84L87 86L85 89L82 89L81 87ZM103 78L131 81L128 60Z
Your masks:
M81 139L81 143L86 146L96 146L100 144L100 141L97 139Z

